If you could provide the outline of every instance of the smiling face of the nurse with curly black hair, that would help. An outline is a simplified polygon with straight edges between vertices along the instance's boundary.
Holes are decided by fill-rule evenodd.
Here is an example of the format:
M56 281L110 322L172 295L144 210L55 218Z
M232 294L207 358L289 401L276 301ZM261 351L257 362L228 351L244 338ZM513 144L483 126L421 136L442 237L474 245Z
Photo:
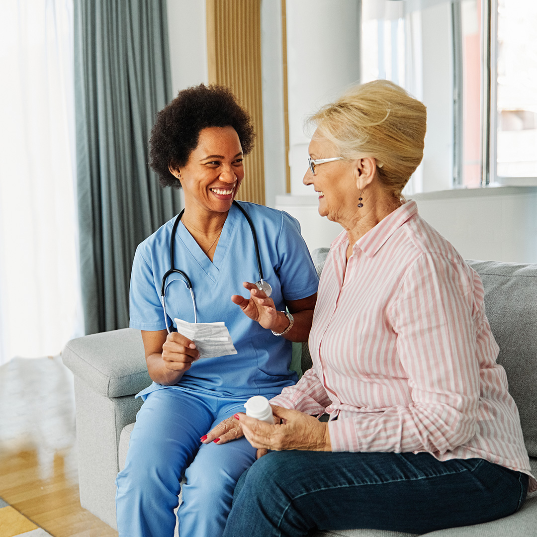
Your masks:
M242 161L241 142L233 127L202 129L198 146L180 168L185 207L206 213L229 211L244 178Z

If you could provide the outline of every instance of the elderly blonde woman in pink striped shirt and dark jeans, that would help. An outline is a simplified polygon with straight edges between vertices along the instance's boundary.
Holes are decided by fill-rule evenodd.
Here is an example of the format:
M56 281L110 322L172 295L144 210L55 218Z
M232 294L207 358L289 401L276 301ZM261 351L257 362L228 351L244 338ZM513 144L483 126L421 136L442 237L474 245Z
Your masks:
M481 280L401 195L425 106L375 81L313 121L304 183L344 230L321 275L313 368L271 401L277 424L236 416L259 455L273 451L241 477L224 535L425 533L517 511L537 482Z

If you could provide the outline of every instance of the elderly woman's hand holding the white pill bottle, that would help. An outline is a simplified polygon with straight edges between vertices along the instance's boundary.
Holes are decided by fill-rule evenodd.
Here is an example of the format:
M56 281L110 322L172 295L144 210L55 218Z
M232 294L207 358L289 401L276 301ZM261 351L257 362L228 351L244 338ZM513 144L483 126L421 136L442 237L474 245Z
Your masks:
M257 455L263 456L268 449L284 451L301 449L304 451L332 451L328 424L317 418L287 408L271 405L274 416L281 423L270 425L243 413L236 414L246 439L257 447Z

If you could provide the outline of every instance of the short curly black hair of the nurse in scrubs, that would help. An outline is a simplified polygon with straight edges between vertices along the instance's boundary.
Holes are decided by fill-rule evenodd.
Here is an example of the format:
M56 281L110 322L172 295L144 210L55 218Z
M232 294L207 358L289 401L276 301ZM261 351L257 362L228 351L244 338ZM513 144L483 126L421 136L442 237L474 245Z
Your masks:
M250 115L238 104L229 88L200 84L179 91L169 105L157 113L149 138L149 165L162 186L180 188L169 166L184 166L198 146L200 131L206 127L233 127L244 155L253 149L255 132Z

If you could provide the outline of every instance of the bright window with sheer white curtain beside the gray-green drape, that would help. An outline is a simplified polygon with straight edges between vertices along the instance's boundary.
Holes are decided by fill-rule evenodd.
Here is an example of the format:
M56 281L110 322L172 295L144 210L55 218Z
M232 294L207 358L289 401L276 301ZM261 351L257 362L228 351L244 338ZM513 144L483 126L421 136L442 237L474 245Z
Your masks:
M54 355L82 326L72 2L4 1L0 17L0 365Z

